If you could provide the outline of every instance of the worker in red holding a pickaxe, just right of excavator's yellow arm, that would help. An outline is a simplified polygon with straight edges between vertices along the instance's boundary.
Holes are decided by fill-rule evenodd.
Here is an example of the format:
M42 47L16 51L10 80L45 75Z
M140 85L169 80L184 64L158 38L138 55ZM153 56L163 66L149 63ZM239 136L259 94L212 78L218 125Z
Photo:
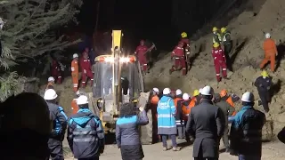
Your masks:
M144 40L141 40L140 45L136 47L134 54L137 56L142 72L146 72L148 68L148 60L146 59L146 53L149 52L149 48L144 44Z

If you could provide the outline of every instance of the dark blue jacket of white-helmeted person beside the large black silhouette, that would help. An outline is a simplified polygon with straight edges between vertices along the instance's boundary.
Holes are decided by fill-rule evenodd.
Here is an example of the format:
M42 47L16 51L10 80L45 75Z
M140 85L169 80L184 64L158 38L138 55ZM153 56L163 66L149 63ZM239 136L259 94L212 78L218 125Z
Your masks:
M51 138L63 140L64 133L68 124L68 116L65 115L63 108L54 103L47 103L50 110L51 120L53 121L53 132Z

